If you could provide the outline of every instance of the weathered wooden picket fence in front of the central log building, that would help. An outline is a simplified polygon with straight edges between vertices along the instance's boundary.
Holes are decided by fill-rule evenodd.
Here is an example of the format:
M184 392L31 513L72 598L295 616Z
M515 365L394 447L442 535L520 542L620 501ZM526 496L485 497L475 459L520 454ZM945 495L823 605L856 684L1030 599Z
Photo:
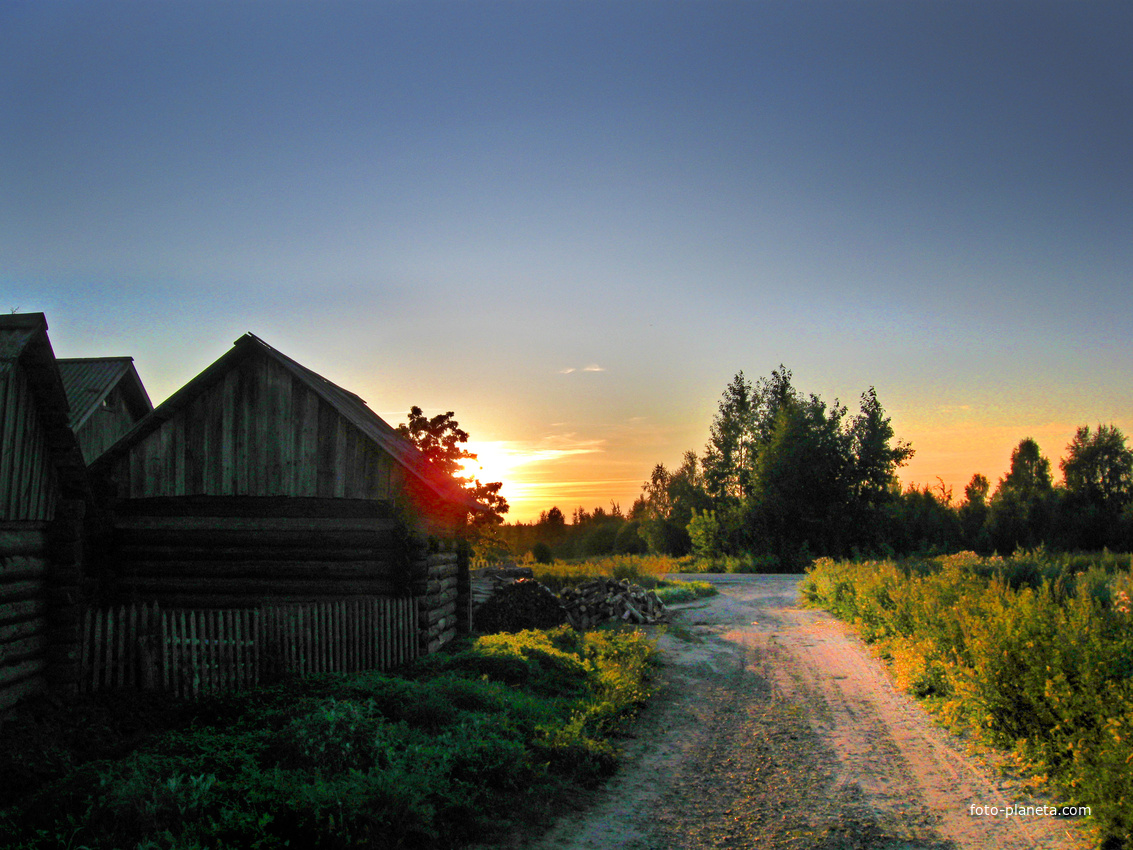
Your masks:
M239 610L88 609L79 688L198 696L280 675L385 670L417 657L415 597Z

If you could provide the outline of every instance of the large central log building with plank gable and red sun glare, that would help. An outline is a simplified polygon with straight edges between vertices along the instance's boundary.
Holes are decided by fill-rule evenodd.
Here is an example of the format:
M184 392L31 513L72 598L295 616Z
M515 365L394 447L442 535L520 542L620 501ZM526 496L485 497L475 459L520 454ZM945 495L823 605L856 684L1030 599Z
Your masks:
M250 333L91 473L112 505L102 567L121 601L416 596L423 651L467 607L467 562L444 541L484 508L358 396Z

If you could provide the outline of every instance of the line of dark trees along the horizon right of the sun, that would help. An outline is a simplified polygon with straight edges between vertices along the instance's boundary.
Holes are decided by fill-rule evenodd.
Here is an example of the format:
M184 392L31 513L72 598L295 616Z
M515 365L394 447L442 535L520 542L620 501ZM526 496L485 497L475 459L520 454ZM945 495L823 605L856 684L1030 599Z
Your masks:
M1133 451L1113 425L1077 428L1057 484L1025 437L994 490L976 474L959 496L943 483L902 490L896 471L913 448L895 437L874 388L851 416L799 392L783 366L755 382L741 372L709 435L676 469L654 467L628 511L577 508L568 522L551 508L497 528L501 542L516 555L693 554L759 571L823 555L1133 551Z

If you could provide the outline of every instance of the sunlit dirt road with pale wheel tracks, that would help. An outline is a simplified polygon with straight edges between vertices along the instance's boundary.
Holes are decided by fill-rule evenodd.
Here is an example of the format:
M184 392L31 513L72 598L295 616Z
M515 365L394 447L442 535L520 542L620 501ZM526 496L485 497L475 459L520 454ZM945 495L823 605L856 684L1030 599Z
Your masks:
M798 576L707 579L721 595L659 639L664 691L625 766L538 850L1090 847L1075 819L1006 816L1057 801L965 755L844 624L796 605Z

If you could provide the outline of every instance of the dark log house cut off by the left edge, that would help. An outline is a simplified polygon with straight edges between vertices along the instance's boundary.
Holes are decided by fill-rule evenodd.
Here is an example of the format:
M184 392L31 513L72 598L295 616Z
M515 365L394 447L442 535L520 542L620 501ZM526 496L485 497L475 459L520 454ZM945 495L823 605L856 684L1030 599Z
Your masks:
M86 465L42 313L0 315L0 709L75 679Z

